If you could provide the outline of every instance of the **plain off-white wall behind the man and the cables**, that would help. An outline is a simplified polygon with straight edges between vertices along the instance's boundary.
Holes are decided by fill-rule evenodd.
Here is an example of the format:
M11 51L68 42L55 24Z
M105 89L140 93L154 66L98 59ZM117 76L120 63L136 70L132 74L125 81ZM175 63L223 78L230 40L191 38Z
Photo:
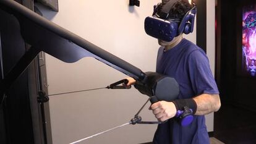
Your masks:
M140 0L140 7L129 7L129 0L101 2L61 0L58 13L48 11L41 6L39 8L47 19L147 72L155 71L159 46L155 38L151 38L144 32L143 21L145 17L151 15L153 5L158 2L160 1ZM207 1L207 6L210 10L214 9L214 4L211 6L211 2ZM195 43L195 32L196 28L194 33L185 37ZM212 33L210 35L212 36ZM214 62L212 57L214 58L215 54L211 44L207 41L207 54L212 66ZM91 57L67 64L46 55L46 69L49 95L106 87L126 77ZM51 96L49 104L53 143L74 142L124 124L134 116L146 100L147 96L141 95L134 88ZM140 116L144 120L155 121L148 107L149 104ZM210 128L208 131L212 131L213 115L208 116L207 126ZM151 142L155 129L156 125L127 125L90 138L83 143Z

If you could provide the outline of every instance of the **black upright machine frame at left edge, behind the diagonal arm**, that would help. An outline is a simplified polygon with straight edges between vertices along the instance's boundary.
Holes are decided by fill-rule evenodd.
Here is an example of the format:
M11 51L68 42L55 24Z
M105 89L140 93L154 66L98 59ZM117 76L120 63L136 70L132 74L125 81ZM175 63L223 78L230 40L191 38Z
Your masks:
M34 9L33 0L22 0L19 2L21 4L25 4L29 9ZM17 19L15 20L13 15L6 17L7 13L4 14L2 9L0 9L0 11L1 14L4 15L4 17L1 17L2 19L10 19L13 22L12 26L15 25L15 27L19 27L19 22ZM12 26L9 28L12 29ZM5 144L25 142L51 144L51 135L49 135L49 133L51 133L51 129L49 128L49 113L45 113L45 109L46 111L49 109L48 103L38 102L38 91L42 90L40 80L40 64L37 56L39 50L33 48L33 46L30 46L30 44L24 43L22 36L17 35L19 32L16 31L17 33L12 33L16 29L11 30L10 32L8 30L4 30L3 28L1 28L1 30L5 32L5 35L3 35L5 36L5 39L2 40L0 37L0 50L1 53L4 50L5 53L3 54L9 53L7 54L9 57L5 56L5 59L2 59L1 54L0 59L0 143ZM14 39L9 40L6 38L8 35L14 37ZM15 40L23 42L20 43L19 41L17 42ZM2 45L2 43L5 44ZM19 44L14 44L16 47L15 48L13 47L14 45L10 45L8 43ZM15 49L12 48L15 48L16 50L24 49L25 51L15 51ZM25 52L24 54L23 51ZM13 62L8 62L12 61L12 59L19 59L19 61L17 61L15 64ZM4 67L2 64L3 61ZM21 90L22 92L20 93ZM22 112L22 115L20 115L20 112Z

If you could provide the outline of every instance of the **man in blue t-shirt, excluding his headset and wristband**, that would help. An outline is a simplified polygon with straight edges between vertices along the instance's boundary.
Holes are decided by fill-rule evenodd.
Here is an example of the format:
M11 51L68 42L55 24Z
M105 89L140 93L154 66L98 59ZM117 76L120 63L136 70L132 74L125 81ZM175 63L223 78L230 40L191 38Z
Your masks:
M193 6L186 0L165 0L158 4L156 14L166 7L169 7L167 20L181 20ZM158 50L156 72L174 77L179 83L180 92L177 100L151 104L150 109L158 121L168 120L158 125L153 143L210 143L204 115L218 111L221 103L206 54L197 45L184 39L182 33L170 42L158 39L158 43L161 47ZM135 83L133 78L127 79L127 85ZM192 109L194 120L183 127L177 119L171 118L176 116L177 110L184 110L185 107Z

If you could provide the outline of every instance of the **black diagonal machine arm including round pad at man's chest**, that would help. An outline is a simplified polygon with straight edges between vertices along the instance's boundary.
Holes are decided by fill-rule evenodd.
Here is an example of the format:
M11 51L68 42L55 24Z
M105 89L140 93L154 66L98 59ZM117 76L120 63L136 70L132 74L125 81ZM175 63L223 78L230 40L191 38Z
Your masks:
M0 22L4 23L4 19L12 19L12 22L19 26L21 37L25 43L30 44L30 49L27 49L9 74L0 80L0 96L11 87L40 51L64 62L76 62L87 56L94 57L135 78L135 88L145 95L154 97L151 98L151 103L158 100L176 100L179 95L179 85L173 77L155 72L144 73L132 64L59 27L15 1L0 0ZM0 28L1 25L2 23Z

